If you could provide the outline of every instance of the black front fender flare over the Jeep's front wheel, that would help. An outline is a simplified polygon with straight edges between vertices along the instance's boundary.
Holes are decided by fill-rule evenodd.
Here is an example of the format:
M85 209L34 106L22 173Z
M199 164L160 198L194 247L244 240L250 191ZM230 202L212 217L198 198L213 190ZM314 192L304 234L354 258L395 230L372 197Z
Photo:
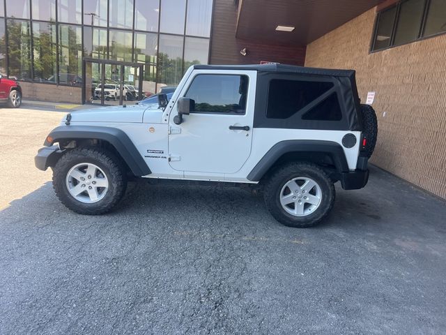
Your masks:
M146 161L139 154L132 140L118 128L102 126L59 126L47 136L44 145L49 147L60 140L93 139L104 140L112 144L130 170L137 177L151 174Z

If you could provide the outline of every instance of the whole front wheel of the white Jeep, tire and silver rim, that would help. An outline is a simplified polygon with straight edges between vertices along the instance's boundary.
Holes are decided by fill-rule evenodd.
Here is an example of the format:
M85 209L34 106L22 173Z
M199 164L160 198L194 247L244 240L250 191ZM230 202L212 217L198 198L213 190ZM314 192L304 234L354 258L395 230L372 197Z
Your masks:
M102 149L73 149L54 167L56 195L68 209L79 214L110 211L123 197L126 186L120 161Z

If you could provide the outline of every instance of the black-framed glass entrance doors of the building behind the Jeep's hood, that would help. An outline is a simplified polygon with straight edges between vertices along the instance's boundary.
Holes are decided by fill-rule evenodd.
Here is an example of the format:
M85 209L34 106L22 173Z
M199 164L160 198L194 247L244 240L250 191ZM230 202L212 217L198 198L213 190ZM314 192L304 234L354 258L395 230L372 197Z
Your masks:
M84 59L82 102L98 105L134 104L144 98L144 64Z

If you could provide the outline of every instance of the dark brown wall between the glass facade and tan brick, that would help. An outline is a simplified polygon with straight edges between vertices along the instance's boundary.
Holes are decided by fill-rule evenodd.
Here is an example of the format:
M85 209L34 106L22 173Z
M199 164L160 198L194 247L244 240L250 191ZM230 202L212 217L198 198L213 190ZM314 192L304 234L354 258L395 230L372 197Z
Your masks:
M259 64L260 61L304 65L305 47L266 45L236 38L238 8L233 0L215 0L210 64ZM247 49L247 55L240 50Z

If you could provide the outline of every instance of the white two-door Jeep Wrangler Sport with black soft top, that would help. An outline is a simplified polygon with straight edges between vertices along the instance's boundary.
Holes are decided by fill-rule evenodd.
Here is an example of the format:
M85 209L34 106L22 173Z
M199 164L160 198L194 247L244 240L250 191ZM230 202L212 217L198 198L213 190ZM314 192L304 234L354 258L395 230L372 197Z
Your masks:
M158 108L68 114L36 167L80 214L111 210L129 176L220 181L260 185L272 216L303 228L332 209L335 182L367 184L376 133L353 70L196 65Z

